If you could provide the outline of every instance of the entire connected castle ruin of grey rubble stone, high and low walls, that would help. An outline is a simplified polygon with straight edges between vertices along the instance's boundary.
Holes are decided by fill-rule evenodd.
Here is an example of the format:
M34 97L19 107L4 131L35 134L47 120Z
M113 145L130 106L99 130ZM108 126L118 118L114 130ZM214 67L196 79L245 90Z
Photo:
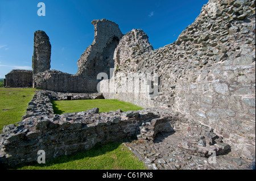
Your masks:
M50 103L55 93L36 92L26 114L31 116L23 116L18 126L5 126L1 162L8 166L35 162L39 149L48 151L51 159L92 148L97 142L137 136L137 141L125 145L150 169L251 168L255 163L254 0L209 0L174 43L155 50L142 30L123 35L109 20L92 24L94 41L77 62L75 75L49 70L51 44L38 31L34 87L73 93L100 90L105 99L145 110L98 113L94 108L55 115ZM131 77L144 74L158 77ZM157 96L148 96L152 90ZM36 111L38 107L41 111Z

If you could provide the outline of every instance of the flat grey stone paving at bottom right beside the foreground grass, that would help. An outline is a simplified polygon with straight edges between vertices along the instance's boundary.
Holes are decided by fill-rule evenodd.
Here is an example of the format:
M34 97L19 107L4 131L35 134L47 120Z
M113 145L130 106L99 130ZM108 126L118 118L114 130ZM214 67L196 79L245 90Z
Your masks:
M200 157L179 147L187 133L159 133L154 142L134 140L126 145L151 170L247 170L249 161L232 153Z

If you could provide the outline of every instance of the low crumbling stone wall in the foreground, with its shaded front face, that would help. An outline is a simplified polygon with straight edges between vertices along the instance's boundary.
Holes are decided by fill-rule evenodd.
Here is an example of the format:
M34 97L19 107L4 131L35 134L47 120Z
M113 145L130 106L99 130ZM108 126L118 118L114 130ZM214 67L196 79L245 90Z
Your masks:
M23 120L3 128L0 162L6 166L36 162L38 151L46 159L88 150L97 142L117 141L138 132L139 125L158 117L148 111L53 114L48 91L36 91Z

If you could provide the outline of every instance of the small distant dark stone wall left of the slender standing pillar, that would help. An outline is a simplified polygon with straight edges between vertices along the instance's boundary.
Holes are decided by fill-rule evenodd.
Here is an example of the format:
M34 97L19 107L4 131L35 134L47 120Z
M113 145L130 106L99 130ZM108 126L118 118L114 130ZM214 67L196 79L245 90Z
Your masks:
M5 75L6 87L32 87L32 70L11 70Z

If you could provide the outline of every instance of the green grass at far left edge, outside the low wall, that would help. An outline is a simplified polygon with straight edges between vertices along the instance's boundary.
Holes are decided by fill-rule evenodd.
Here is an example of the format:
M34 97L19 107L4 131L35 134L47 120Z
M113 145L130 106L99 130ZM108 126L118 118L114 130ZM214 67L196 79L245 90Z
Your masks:
M0 133L3 126L21 121L35 89L9 89L0 87Z

